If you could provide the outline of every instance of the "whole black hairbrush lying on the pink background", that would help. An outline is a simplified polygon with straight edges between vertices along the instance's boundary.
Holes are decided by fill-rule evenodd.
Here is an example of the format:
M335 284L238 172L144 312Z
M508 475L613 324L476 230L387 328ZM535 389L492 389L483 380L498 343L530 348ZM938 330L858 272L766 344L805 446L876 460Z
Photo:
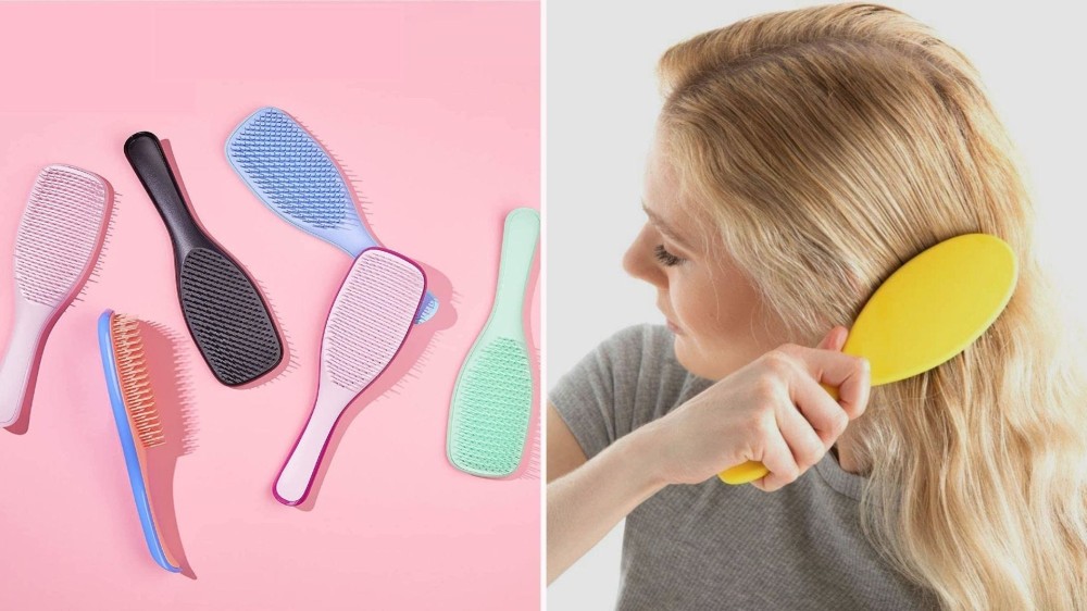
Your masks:
M134 134L125 157L170 232L182 312L212 373L238 386L275 369L283 341L267 306L246 272L192 219L159 138Z

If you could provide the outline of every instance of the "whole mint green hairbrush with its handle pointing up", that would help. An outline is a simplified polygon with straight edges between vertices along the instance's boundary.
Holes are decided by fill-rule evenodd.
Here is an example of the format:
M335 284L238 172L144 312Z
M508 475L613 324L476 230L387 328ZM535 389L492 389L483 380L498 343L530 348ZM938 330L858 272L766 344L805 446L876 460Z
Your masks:
M495 304L453 387L446 453L472 475L510 475L524 453L533 411L525 289L539 229L539 214L530 208L505 217Z

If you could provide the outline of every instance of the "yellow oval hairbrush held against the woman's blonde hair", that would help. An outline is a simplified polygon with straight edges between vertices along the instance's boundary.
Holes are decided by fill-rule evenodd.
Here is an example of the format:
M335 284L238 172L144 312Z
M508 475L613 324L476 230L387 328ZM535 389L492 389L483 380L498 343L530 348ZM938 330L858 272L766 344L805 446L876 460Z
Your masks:
M857 315L841 351L872 365L872 386L905 379L962 352L997 320L1015 289L1015 253L1002 239L966 234L909 260ZM823 386L835 399L836 388ZM747 484L770 471L748 461L717 476Z

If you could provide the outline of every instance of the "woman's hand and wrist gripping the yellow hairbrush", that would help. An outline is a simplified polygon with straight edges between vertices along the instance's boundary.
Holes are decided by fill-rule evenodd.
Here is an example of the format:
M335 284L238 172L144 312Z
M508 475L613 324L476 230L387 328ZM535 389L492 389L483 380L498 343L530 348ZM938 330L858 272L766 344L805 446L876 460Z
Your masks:
M721 379L666 416L632 433L653 448L665 484L697 484L749 460L770 474L765 491L817 463L867 406L865 359L844 354L834 327L816 348L785 345ZM835 401L820 383L838 388Z

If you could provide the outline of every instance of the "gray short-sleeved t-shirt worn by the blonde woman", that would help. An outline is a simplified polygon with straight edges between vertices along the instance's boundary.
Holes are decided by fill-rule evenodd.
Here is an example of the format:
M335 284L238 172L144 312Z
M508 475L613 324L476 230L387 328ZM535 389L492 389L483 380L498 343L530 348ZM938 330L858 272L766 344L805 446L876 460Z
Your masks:
M676 361L673 339L662 326L624 329L551 389L589 459L710 386ZM863 483L827 453L775 492L716 477L665 487L626 518L616 608L935 608L865 539Z

